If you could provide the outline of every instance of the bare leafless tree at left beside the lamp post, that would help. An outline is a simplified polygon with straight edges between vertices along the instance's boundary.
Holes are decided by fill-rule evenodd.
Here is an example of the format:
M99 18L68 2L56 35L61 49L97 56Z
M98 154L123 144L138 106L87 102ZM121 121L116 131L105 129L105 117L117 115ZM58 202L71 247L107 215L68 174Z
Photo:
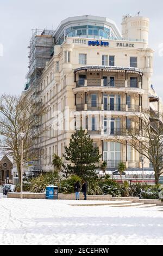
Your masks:
M30 136L33 125L33 105L18 96L4 94L0 97L0 135L1 146L9 149L9 154L17 165L18 178L21 177L21 141L20 133L25 133L23 162L31 160L32 138Z

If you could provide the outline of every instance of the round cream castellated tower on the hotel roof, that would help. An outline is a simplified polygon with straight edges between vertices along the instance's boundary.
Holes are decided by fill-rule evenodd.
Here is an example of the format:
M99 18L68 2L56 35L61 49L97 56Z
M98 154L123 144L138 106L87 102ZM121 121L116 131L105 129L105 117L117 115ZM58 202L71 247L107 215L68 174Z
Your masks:
M148 43L149 19L146 17L130 17L122 20L122 37L124 40L141 40Z

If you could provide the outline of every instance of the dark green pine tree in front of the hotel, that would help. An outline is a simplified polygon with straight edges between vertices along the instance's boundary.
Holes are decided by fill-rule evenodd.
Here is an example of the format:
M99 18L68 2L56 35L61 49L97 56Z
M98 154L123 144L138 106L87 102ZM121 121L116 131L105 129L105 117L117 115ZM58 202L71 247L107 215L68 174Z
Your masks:
M75 174L85 180L97 177L95 163L99 163L101 155L99 148L93 147L92 142L93 140L82 128L72 134L70 145L65 147L65 154L63 154L65 159L72 163L64 165L66 176Z

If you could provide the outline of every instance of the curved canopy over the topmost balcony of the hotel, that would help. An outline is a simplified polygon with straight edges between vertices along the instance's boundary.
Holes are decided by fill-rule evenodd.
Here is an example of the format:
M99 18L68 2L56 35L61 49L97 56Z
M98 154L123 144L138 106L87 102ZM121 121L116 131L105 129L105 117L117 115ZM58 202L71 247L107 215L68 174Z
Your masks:
M111 71L111 72L127 72L127 73L136 73L143 75L143 72L139 68L130 68L130 67L115 67L115 66L83 66L77 69L74 69L74 73L81 72L82 70L95 70L95 71Z

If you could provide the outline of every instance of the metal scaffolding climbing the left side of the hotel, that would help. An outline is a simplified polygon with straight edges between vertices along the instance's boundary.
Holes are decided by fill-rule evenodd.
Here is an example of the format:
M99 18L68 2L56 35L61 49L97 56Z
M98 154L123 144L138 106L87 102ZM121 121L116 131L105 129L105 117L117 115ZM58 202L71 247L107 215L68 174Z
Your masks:
M50 30L32 29L32 38L29 48L29 71L26 79L25 90L31 90L31 101L33 105L33 125L30 131L32 139L31 154L33 156L33 171L42 171L41 166L41 75L46 66L46 62L53 56L53 33Z

